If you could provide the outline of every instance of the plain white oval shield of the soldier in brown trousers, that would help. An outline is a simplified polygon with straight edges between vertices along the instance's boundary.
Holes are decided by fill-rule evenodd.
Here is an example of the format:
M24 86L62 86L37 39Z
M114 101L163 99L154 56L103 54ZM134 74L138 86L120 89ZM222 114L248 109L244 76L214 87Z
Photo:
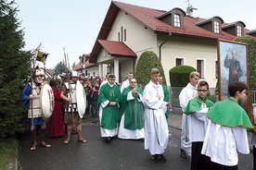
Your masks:
M76 102L78 114L80 118L83 118L86 109L86 94L79 80L76 81Z

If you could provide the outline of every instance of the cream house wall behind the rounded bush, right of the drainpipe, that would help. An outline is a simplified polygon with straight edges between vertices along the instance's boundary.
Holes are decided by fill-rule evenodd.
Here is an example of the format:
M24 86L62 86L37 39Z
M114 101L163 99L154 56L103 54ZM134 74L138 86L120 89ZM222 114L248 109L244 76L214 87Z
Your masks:
M216 41L173 36L164 43L161 47L161 64L168 86L170 86L169 70L176 66L176 58L184 58L184 65L196 69L197 60L203 60L202 79L209 83L210 88L216 87Z

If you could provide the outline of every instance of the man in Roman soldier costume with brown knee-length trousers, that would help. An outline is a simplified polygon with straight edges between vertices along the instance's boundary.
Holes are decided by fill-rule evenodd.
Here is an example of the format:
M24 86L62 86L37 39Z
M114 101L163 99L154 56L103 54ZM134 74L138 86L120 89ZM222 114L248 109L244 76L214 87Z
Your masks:
M77 80L78 75L76 71L71 72L71 81L69 82L69 85L67 86L69 91L69 98L72 99L72 102L68 103L68 107L66 110L66 113L64 115L64 122L67 126L67 140L64 141L64 143L68 144L71 140L71 132L72 132L72 124L75 125L77 135L78 135L78 141L85 143L86 140L83 140L82 137L82 124L81 124L81 117L78 113L78 105L77 105ZM85 111L85 110L84 110Z

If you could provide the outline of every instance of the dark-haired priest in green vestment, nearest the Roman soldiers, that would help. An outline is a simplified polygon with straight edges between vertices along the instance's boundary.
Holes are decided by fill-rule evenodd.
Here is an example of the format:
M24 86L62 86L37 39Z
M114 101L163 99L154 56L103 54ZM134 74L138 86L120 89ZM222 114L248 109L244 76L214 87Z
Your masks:
M120 88L115 83L115 76L109 75L108 82L100 88L97 100L101 137L107 141L118 134L121 97Z

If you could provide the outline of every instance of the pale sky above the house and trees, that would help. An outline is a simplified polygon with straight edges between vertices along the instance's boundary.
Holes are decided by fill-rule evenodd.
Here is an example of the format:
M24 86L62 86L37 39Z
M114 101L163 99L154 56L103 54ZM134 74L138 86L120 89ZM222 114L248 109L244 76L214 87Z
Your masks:
M256 29L255 0L117 0L135 6L160 10L180 7L186 11L191 5L198 10L193 16L218 16L224 22L243 21L249 30ZM26 43L23 50L41 50L48 53L46 68L55 68L64 62L64 51L69 55L70 67L79 63L79 56L90 54L98 31L109 10L111 0L15 0L19 12L20 29ZM244 3L244 4L243 4ZM245 7L246 6L246 7ZM251 16L252 15L252 16ZM43 65L39 65L43 67Z

